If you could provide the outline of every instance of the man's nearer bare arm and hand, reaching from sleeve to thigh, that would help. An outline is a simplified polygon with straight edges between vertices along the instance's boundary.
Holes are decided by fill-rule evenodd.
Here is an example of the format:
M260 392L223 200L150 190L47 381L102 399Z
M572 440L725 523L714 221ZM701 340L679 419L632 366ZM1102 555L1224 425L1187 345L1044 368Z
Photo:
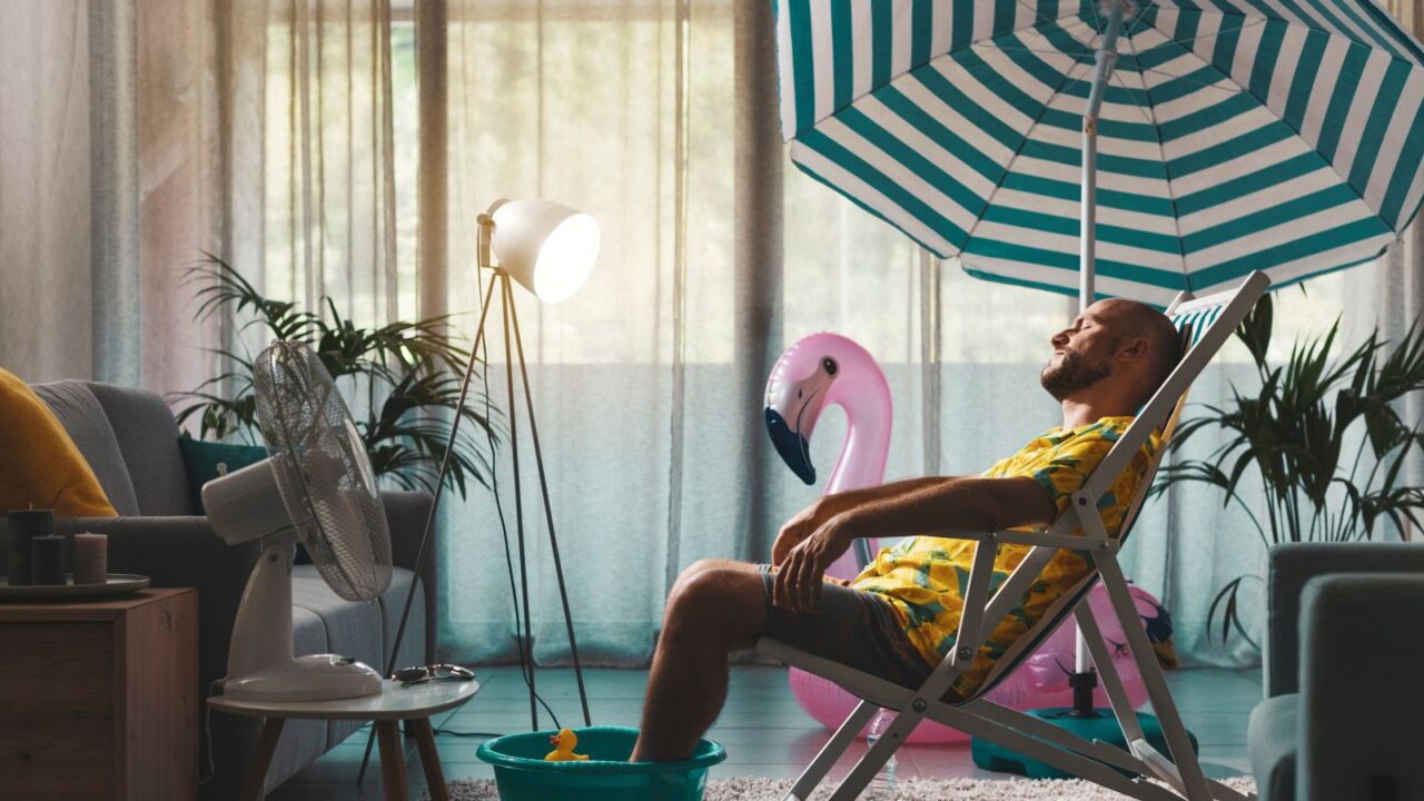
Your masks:
M938 479L917 489L860 503L830 517L790 549L776 573L772 600L792 611L820 603L822 576L859 537L903 537L931 532L993 532L1048 524L1058 513L1030 477ZM953 536L953 534L943 534Z

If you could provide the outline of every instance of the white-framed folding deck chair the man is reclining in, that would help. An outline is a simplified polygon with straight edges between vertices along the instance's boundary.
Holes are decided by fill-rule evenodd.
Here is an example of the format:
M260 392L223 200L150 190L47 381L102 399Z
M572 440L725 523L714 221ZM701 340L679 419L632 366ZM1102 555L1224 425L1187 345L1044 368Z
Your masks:
M1270 278L1263 272L1253 272L1236 289L1196 299L1183 292L1172 301L1172 305L1168 306L1168 315L1182 332L1183 346L1183 355L1176 369L1142 408L1142 412L1102 459L1098 469L1084 482L1082 489L1072 495L1068 510L1059 515L1047 530L930 533L930 536L975 540L975 546L956 647L923 686L901 687L768 637L758 641L756 648L763 656L829 678L862 698L850 717L796 780L786 795L787 800L805 801L809 798L856 734L881 707L894 710L899 715L880 740L856 763L846 780L836 788L832 801L850 801L860 795L886 760L924 718L1012 748L1061 771L1143 801L1180 798L1189 801L1247 801L1253 798L1210 781L1202 774L1202 765L1192 750L1186 728L1182 725L1176 704L1172 701L1172 694L1158 666L1156 654L1148 641L1146 629L1132 603L1132 596L1128 593L1128 580L1118 564L1118 549L1142 507L1142 499L1152 485L1162 455L1168 450L1166 446L1182 413L1188 389L1267 286L1270 286ZM1148 466L1124 517L1119 536L1114 539L1108 534L1098 515L1098 499L1159 426L1162 429L1162 448L1158 449L1155 459ZM1079 526L1084 532L1082 536L1072 533ZM988 597L994 556L1000 543L1022 543L1032 547L1012 574L1004 580L998 591ZM1000 657L974 696L956 704L941 701L954 678L973 663L974 654L978 653L994 626L1018 603L1030 583L1042 572L1058 549L1074 549L1091 554L1094 569L1071 590L1059 596L1044 617ZM1092 609L1087 603L1088 590L1099 579L1108 590L1112 609L1128 637L1132 658L1136 661L1146 686L1148 698L1162 727L1171 758L1149 745L1143 737L1122 680L1112 666ZM1088 643L1092 661L1128 743L1126 750L1104 741L1089 743L1051 723L984 698L985 693L1012 673L1020 661L1032 654L1069 617L1078 620L1078 627ZM1165 782L1165 787L1151 782L1148 778L1158 778Z

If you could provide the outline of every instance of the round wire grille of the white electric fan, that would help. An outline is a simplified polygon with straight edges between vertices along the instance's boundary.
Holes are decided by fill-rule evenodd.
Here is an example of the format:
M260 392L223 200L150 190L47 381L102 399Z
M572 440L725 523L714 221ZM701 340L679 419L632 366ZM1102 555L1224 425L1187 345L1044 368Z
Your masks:
M276 341L252 379L276 483L312 563L337 596L379 597L390 587L386 509L330 373L306 345Z

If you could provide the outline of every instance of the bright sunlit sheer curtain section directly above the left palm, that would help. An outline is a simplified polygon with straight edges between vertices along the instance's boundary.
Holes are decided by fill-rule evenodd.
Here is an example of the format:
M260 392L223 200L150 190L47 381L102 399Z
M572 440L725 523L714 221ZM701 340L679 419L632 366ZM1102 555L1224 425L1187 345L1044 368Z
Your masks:
M359 325L413 314L409 14L393 24L390 0L262 0L215 13L234 267L309 311L329 296Z

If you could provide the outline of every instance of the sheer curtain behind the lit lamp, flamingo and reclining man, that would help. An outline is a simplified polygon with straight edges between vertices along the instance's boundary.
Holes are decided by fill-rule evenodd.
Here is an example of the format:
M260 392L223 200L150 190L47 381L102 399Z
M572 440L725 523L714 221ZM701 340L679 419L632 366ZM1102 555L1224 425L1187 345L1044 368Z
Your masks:
M449 14L450 308L476 305L471 221L491 200L561 200L604 227L605 249L578 295L540 306L520 292L585 660L644 661L678 570L703 556L766 559L776 524L819 493L770 455L756 391L748 392L765 381L768 358L800 336L836 331L881 361L896 402L887 479L980 472L1058 423L1037 376L1075 301L936 264L790 168L779 143L748 138L735 115L746 88L738 80L748 80L738 63L746 14L721 3L562 0L463 0ZM783 180L760 208L776 224L759 234L776 241L762 242L765 262L746 264L739 255L756 248L739 244L750 235L739 204L748 191L772 192L739 170L746 148L765 147L776 148ZM1418 274L1408 255L1388 264L1283 292L1277 345L1341 312L1347 326L1373 319L1361 286ZM1418 308L1415 288L1388 319L1413 319ZM490 345L488 388L503 406L498 331ZM1233 381L1252 375L1233 345L1193 399L1223 402ZM843 436L839 412L817 426L812 458L822 475ZM567 663L527 442L521 455L534 651ZM513 476L501 473L498 486L513 530ZM460 658L513 658L515 620L488 493L451 506L446 523L443 644ZM1206 634L1216 591L1263 567L1247 526L1209 490L1183 487L1149 506L1128 547L1131 574L1172 610L1188 663L1257 658L1240 639L1223 646Z

